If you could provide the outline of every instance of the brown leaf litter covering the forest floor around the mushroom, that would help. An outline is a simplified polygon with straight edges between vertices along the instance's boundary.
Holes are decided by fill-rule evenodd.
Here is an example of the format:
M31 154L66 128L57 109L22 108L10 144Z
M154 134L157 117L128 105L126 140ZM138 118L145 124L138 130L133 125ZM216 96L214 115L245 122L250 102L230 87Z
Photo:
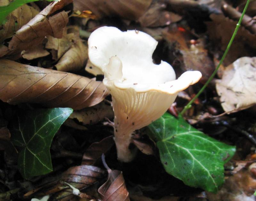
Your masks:
M101 83L103 73L90 63L87 53L87 39L100 26L144 31L158 41L153 55L155 63L163 60L172 64L177 77L186 70L199 70L203 74L201 83L204 83L215 70L228 44L244 2L118 0L112 4L100 0L74 0L73 9L72 1L61 0L24 4L9 13L0 27L0 99L12 104L8 106L11 110L6 108L7 103L0 104L1 116L5 122L9 122L8 126L7 123L1 125L0 130L0 186L4 189L0 197L20 199L22 193L28 192L24 197L26 200L35 197L41 199L46 195L49 195L49 199L57 200L105 200L108 196L108 200L119 199L117 196L129 200L128 195L133 200L180 200L184 197L253 200L256 190L253 166L256 150L253 88L256 86L253 79L255 1L250 3L218 76L184 116L209 137L236 145L234 157L224 166L225 183L218 194L204 191L211 189L210 184L203 187L205 182L200 182L204 190L195 189L183 183L198 186L193 183L193 178L185 176L181 182L167 174L164 170L166 161L161 156L162 148L146 136L148 133L145 130L133 133L131 148L137 146L141 151L138 151L135 160L130 164L116 160L111 129L114 126L111 122L113 111L110 104L105 104L111 99ZM201 87L198 84L181 92L168 111L177 116ZM105 103L100 103L104 98L107 99ZM70 107L76 110L70 116L72 119L69 118L53 138L50 148L53 172L29 178L35 190L31 190L31 186L20 190L17 183L23 180L17 177L20 173L17 172L15 155L22 154L22 149L12 145L10 138L14 138L15 133L8 129L12 119L17 117L17 109L37 111L44 107ZM103 123L105 117L108 118L107 123ZM177 139L174 137L171 140ZM176 145L189 146L185 141L179 142L181 144L176 142ZM36 149L40 153L39 144L32 148L33 153ZM155 146L159 148L160 155ZM173 147L169 148L171 150ZM197 158L196 150L192 152L193 157ZM100 160L102 153L107 156L108 165L115 169L107 168L108 177ZM216 164L226 162L231 155L223 155L223 160L217 160ZM181 160L186 157L185 154ZM216 157L219 156L213 155L211 158ZM199 161L204 163L204 160ZM180 169L182 172L182 167ZM8 171L10 174L6 174ZM196 175L196 179L199 179L200 174ZM214 176L211 175L212 178ZM213 179L219 179L221 183L224 181L221 178ZM186 182L186 179L193 184ZM74 195L75 191L77 195Z

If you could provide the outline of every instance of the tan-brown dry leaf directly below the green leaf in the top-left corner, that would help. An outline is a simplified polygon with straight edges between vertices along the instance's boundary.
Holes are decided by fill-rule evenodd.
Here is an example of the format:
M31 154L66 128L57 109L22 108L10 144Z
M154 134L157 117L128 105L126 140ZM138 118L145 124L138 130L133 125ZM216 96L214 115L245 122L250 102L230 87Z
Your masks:
M3 28L0 29L0 41L12 37L15 31L28 23L29 20L33 19L38 13L39 11L27 4L24 4L12 11L7 16L7 21L4 23Z

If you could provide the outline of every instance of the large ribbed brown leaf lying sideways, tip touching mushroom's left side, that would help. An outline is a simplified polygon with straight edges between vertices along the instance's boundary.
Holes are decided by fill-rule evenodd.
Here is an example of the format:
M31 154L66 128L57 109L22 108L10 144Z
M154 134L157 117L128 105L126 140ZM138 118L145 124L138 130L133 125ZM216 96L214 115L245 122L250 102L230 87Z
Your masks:
M0 99L9 104L31 102L82 109L108 95L102 82L6 59L0 60L0 77Z

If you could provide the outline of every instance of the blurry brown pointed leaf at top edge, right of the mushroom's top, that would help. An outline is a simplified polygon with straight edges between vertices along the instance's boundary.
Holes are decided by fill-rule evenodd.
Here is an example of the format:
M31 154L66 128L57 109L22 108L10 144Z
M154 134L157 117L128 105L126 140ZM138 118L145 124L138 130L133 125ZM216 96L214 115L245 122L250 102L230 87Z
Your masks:
M166 4L153 1L149 9L138 19L140 25L144 27L166 26L182 19L173 12L165 11L165 8Z

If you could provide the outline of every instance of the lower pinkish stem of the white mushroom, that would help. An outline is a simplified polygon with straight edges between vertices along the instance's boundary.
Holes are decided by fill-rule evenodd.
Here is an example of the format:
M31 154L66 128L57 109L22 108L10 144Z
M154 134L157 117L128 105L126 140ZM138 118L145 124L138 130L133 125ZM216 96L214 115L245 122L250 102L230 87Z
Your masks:
M132 161L136 153L135 149L129 149L129 145L132 143L132 133L122 132L122 130L116 132L115 130L115 142L117 159L122 162Z

